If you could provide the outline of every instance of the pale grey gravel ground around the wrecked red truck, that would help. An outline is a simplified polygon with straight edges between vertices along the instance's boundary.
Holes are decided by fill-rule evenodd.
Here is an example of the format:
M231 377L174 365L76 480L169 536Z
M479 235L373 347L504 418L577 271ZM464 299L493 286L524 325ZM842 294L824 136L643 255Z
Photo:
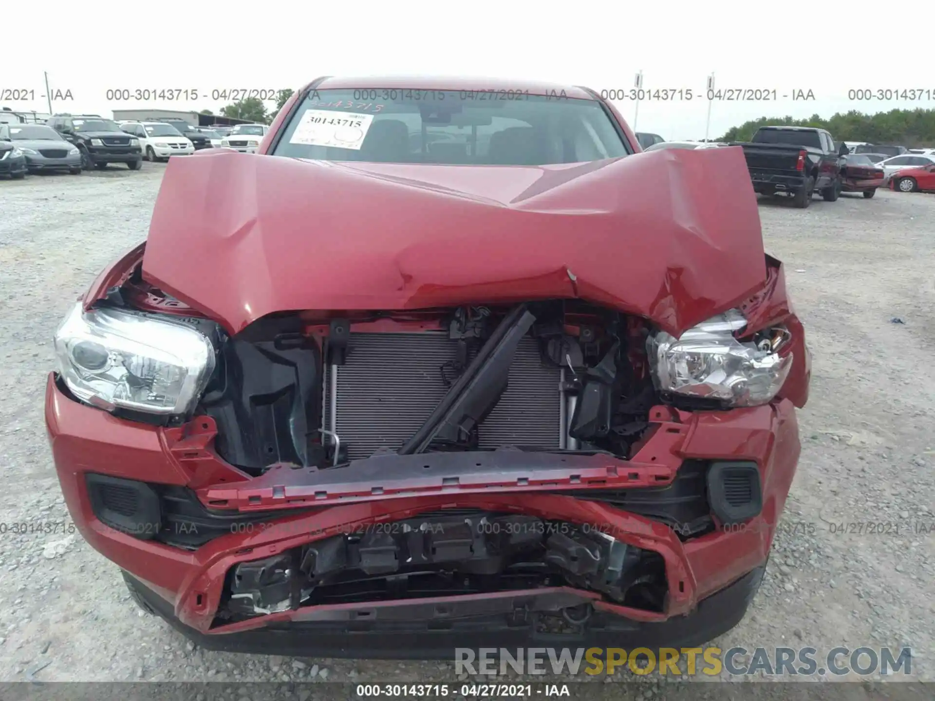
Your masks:
M72 300L146 234L163 165L0 182L0 523L65 522L42 419ZM913 649L935 657L935 197L880 191L795 209L761 200L767 248L813 350L803 451L763 587L714 641ZM880 532L841 533L849 523ZM844 524L843 528L833 524ZM926 531L931 533L926 533ZM897 532L899 531L899 532ZM202 651L144 616L78 534L0 535L0 681L453 681L453 665ZM652 675L619 698L649 698ZM629 673L616 679L634 679ZM535 678L542 680L542 678ZM665 694L664 694L665 695ZM306 694L308 697L308 694Z

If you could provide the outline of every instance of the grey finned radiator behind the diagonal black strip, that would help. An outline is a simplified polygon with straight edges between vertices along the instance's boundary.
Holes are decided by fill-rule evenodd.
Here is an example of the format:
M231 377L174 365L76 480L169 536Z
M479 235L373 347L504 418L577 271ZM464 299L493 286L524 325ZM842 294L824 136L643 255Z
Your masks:
M324 373L324 428L338 434L348 458L381 449L396 451L423 425L448 391L441 366L453 361L456 343L446 332L352 334L347 362L331 387ZM533 338L524 338L510 368L510 383L478 428L480 447L559 447L560 370L544 366ZM448 371L453 380L453 373ZM337 396L334 425L332 396Z

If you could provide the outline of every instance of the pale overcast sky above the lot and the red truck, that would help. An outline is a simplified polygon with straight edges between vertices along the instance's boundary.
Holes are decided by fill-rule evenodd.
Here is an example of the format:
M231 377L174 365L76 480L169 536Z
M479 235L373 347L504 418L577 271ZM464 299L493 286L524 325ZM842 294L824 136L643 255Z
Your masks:
M637 129L667 139L704 136L706 77L712 71L717 89L758 89L770 91L770 97L775 90L778 98L715 101L712 138L764 115L935 108L931 0L904 0L890 15L879 3L832 8L721 0L625 6L281 0L91 3L84 9L80 0L77 5L18 3L17 21L4 35L0 106L48 111L44 70L53 93L71 91L74 97L54 101L53 111L109 117L112 109L136 107L217 112L225 102L211 99L214 90L297 88L320 75L493 76L628 91L641 69L644 89L694 93L690 101L640 102ZM33 8L36 31L30 29ZM43 41L47 33L37 28L49 16L60 16L74 40ZM903 27L906 34L899 37ZM194 89L201 97L116 102L107 99L108 89ZM921 99L848 99L848 91L858 89L915 90ZM33 93L8 99L9 91L22 90ZM798 90L811 90L815 99L793 101ZM614 102L632 125L636 103Z

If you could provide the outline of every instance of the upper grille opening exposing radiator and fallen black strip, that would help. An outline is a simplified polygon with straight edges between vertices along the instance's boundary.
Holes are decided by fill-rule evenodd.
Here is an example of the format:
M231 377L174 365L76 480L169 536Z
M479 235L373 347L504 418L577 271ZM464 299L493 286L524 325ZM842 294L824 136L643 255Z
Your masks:
M577 301L270 317L222 344L201 409L253 474L381 452L626 456L656 399L647 334Z

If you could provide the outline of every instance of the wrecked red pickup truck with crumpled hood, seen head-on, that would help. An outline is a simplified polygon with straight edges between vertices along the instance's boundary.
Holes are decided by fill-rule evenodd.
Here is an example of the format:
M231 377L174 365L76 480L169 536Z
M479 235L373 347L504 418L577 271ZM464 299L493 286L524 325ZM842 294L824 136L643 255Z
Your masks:
M741 620L810 355L740 149L641 153L581 87L324 78L259 151L172 159L55 336L65 500L143 608L329 657Z

